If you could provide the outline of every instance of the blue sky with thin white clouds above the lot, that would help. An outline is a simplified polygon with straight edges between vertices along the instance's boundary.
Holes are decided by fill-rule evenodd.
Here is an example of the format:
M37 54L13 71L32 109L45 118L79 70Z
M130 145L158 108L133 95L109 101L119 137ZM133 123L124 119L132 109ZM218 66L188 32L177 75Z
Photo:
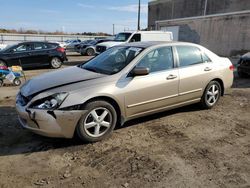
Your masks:
M148 0L141 0L147 27ZM0 28L107 32L137 28L138 0L0 0Z

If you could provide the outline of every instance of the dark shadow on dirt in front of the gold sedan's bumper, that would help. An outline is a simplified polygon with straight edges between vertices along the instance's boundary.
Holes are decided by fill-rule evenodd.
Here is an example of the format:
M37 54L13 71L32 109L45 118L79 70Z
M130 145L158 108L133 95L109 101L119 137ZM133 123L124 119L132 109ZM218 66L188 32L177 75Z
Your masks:
M26 154L81 145L78 138L47 138L23 129L14 107L0 107L0 156Z

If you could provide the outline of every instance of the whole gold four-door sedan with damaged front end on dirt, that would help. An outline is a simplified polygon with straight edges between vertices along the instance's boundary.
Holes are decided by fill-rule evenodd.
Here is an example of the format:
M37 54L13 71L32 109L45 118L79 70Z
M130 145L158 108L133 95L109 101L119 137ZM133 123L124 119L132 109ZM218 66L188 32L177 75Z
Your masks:
M37 134L96 142L117 125L200 103L212 108L233 83L233 65L181 42L129 43L86 64L29 80L16 98L21 125Z

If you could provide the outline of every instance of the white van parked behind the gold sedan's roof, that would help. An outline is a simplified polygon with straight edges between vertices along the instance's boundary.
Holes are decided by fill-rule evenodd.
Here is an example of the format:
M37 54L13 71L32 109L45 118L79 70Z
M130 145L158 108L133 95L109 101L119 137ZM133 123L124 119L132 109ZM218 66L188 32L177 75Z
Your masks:
M134 33L123 32L116 35L114 41L103 42L96 46L96 53L100 54L116 45L129 42L143 41L173 41L173 33L166 31L136 31Z

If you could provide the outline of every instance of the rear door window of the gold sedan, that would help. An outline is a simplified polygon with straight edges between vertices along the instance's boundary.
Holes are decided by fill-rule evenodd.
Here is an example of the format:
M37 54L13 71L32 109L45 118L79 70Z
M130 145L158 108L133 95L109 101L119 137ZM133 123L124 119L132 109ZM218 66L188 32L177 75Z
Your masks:
M199 48L194 46L176 46L179 56L179 66L186 67L203 63L202 54Z

